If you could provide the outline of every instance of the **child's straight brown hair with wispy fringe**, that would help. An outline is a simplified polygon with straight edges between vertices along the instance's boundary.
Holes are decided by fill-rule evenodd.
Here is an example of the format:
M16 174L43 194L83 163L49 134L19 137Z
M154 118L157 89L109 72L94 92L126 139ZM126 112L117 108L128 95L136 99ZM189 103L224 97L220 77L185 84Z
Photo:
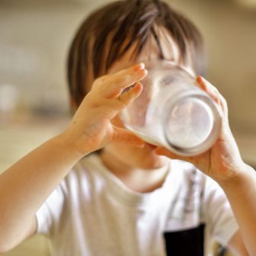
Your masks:
M197 28L160 0L126 0L110 3L85 19L69 50L68 82L72 101L78 106L85 97L86 78L103 75L136 43L133 57L151 36L158 46L159 59L165 59L158 30L164 27L178 45L182 62L190 56L194 71L203 75L203 40ZM89 65L90 64L90 65Z

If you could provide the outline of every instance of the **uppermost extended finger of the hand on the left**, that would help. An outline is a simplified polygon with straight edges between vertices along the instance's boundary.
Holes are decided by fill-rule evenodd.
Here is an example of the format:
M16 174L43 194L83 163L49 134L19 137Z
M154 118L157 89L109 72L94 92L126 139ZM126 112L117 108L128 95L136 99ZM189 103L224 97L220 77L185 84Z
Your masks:
M132 68L108 75L108 78L104 78L104 82L98 86L98 90L104 98L115 98L122 94L124 89L142 80L146 74L145 65L139 63Z

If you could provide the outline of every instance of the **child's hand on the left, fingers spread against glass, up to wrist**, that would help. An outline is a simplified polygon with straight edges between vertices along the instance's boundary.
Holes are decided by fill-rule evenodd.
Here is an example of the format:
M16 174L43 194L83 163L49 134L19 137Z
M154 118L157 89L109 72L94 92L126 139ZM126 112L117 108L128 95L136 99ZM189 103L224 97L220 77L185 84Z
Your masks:
M111 120L117 116L142 91L139 83L147 74L140 63L112 75L97 78L76 111L72 122L62 136L69 146L82 155L101 149L110 141L126 142L133 146L143 146L144 142L127 130L116 127ZM136 85L130 90L123 89ZM122 93L123 92L123 93Z

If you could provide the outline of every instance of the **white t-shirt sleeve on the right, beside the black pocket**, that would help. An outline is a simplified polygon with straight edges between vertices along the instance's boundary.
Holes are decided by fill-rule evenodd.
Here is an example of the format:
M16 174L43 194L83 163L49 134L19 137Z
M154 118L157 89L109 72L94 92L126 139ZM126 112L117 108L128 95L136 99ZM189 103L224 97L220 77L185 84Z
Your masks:
M221 245L227 245L238 230L238 224L226 194L211 178L206 178L204 200L206 222L210 225L211 237Z

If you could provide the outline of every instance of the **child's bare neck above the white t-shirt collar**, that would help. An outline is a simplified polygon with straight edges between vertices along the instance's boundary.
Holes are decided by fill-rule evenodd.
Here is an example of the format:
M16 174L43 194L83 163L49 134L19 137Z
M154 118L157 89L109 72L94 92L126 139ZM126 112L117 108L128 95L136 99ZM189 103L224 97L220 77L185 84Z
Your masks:
M103 164L114 174L126 187L139 193L148 193L161 187L168 174L165 164L161 168L136 168L122 162L115 155L104 151L100 155Z

